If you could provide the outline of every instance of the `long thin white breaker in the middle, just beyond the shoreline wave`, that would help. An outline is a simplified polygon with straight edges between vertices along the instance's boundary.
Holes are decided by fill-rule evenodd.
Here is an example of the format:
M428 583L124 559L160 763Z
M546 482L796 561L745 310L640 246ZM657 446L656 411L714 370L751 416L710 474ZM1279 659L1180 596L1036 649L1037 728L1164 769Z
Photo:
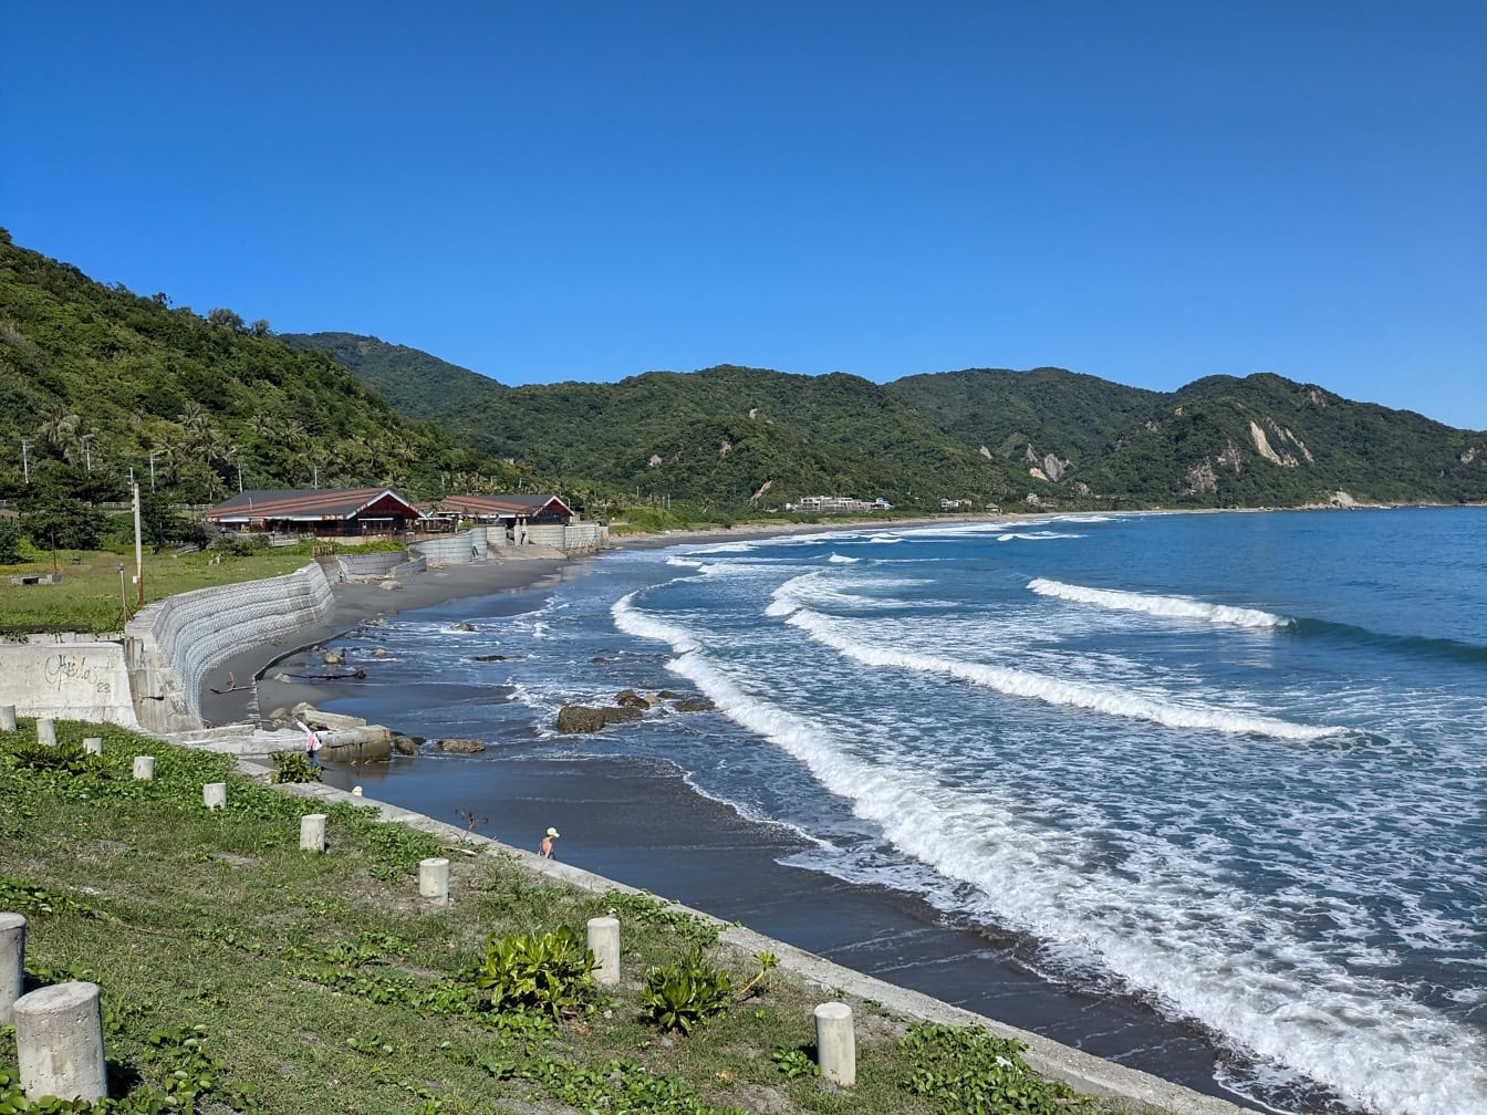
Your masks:
M1169 728L1201 728L1289 740L1320 739L1346 731L1341 727L1292 724L1291 721L1273 717L1259 717L1212 705L1184 705L1112 685L1066 681L1029 670L1008 669L1005 666L946 659L938 654L920 654L885 644L867 644L846 635L837 620L821 615L809 608L799 608L790 598L778 598L770 604L767 614L775 617L790 615L788 621L810 635L816 642L831 647L865 666L882 666L919 673L943 673L975 685L986 685L1011 697L1033 697L1048 705L1065 705L1103 712L1111 717L1145 720Z

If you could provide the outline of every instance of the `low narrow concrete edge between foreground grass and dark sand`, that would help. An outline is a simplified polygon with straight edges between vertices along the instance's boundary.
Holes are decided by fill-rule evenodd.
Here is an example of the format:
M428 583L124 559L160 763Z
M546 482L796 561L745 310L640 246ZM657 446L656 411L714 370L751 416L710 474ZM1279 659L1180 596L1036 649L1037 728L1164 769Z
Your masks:
M269 769L248 760L239 760L238 773L257 780L266 780ZM512 847L477 833L434 821L424 813L415 813L367 797L357 797L324 783L284 785L280 789L323 801L373 806L381 812L384 821L404 824L409 828L430 833L451 844L479 847L486 855L515 856L534 874L575 886L589 893L604 893L607 891L642 893L633 886L617 883L592 871L584 871L555 859L544 859L534 852ZM738 948L744 956L758 951L773 953L779 957L781 968L818 986L822 990L822 998L837 998L840 993L845 993L882 1003L885 1009L909 1018L949 1026L980 1026L987 1033L1022 1042L1028 1050L1025 1059L1035 1072L1065 1081L1080 1093L1105 1100L1115 1111L1141 1112L1142 1115L1252 1115L1252 1112L1246 1112L1246 1109L1215 1096L1204 1096L1181 1084L1152 1076L1148 1072L1093 1057L1036 1033L1019 1030L995 1018L987 1018L972 1011L952 1006L928 995L885 983L851 968L843 968L815 953L796 948L791 944L764 937L752 929L729 925L702 910L691 910L680 904L672 904L671 908L684 910L718 926L723 943Z

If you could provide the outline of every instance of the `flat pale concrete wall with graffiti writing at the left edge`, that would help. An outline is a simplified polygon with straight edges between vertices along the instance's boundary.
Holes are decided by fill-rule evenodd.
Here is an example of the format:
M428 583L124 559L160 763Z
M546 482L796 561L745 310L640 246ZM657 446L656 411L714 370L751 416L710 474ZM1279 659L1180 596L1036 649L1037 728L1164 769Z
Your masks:
M21 717L140 727L117 642L0 644L0 705Z

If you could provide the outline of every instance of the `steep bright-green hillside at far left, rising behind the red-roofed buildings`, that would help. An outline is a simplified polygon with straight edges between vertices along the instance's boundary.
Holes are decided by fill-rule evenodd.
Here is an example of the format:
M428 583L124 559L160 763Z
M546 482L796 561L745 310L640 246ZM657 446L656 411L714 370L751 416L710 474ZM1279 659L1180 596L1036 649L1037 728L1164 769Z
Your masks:
M152 459L158 488L190 501L236 491L239 468L248 488L422 494L442 473L504 470L266 321L106 287L0 230L0 497L21 492L24 465L122 494Z

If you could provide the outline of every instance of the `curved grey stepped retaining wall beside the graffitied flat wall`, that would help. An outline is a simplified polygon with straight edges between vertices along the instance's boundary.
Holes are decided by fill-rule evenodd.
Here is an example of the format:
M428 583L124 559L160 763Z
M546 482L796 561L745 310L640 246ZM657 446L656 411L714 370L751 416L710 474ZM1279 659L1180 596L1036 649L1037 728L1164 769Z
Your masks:
M147 731L201 727L199 696L213 669L238 651L329 623L335 613L330 581L314 563L266 581L170 596L141 610L125 627L140 725Z

